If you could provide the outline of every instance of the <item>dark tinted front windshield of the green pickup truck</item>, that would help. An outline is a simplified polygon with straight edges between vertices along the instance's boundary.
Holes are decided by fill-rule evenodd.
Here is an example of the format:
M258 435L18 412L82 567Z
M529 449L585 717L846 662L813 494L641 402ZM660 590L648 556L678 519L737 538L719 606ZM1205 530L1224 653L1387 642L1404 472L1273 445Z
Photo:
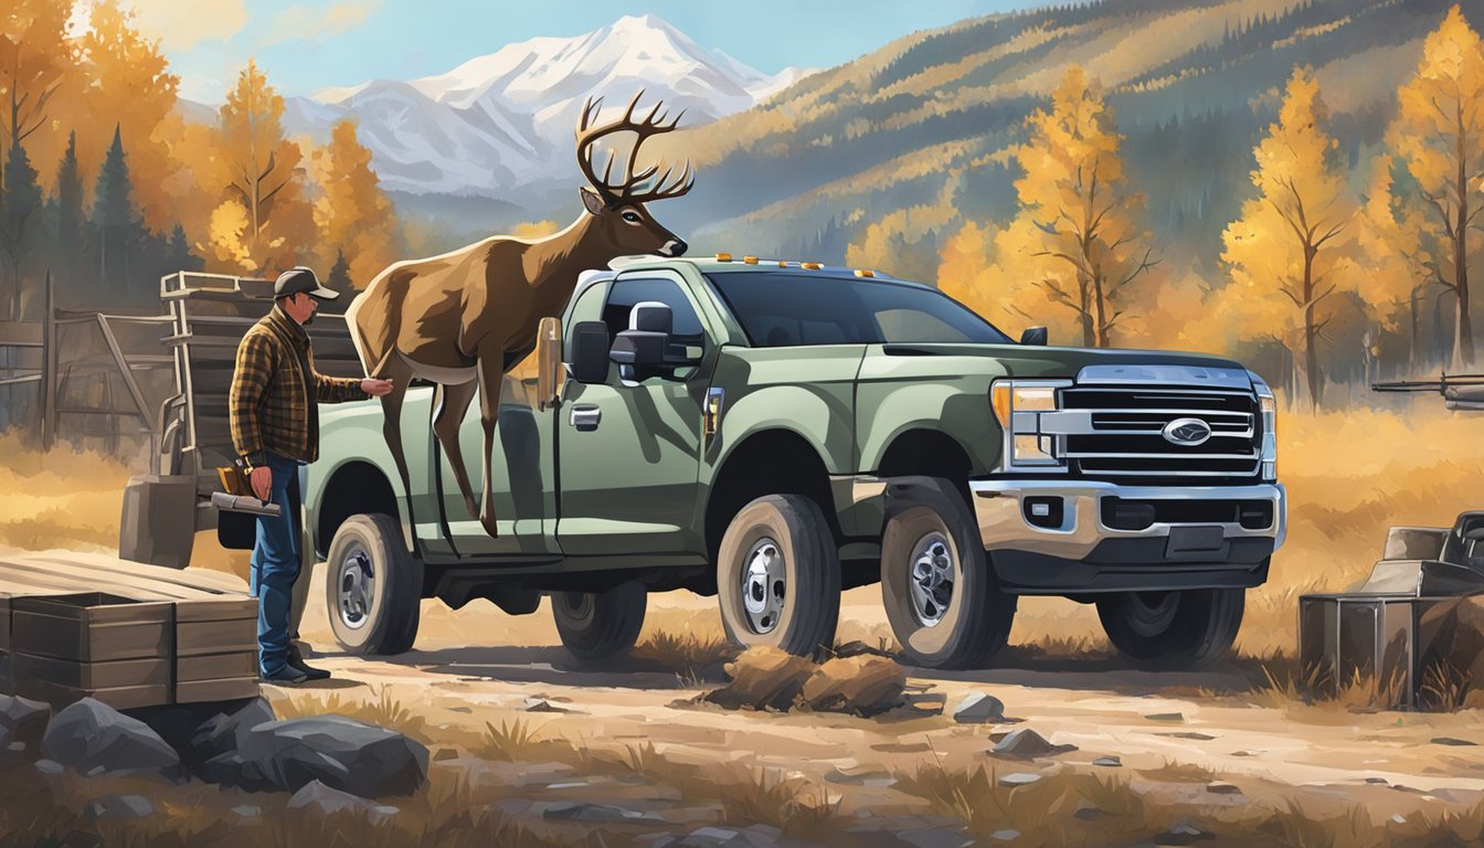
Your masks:
M754 348L1011 342L932 288L807 270L712 272L706 278Z

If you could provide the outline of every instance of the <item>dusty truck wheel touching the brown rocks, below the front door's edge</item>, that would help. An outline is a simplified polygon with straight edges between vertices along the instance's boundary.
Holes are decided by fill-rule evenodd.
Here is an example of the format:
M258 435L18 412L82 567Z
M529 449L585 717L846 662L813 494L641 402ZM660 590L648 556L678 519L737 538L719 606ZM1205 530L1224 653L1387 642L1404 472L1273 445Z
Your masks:
M761 570L749 581L754 566ZM721 536L717 600L721 627L739 648L767 645L798 656L831 648L840 552L819 505L803 495L766 495L743 506Z

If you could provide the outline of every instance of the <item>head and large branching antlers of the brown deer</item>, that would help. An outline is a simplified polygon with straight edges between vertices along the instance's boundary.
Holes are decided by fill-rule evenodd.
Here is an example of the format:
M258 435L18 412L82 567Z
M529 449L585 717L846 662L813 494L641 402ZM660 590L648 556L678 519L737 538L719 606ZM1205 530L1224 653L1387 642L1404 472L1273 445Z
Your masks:
M677 257L686 252L686 242L656 221L646 203L678 198L689 192L695 184L690 162L686 162L686 169L672 178L674 168L665 168L663 174L659 172L659 165L638 169L638 154L646 138L674 131L686 113L681 110L674 120L666 120L668 113L660 113L663 102L656 102L646 117L635 120L634 108L643 94L641 89L634 95L623 117L603 125L595 123L603 98L597 101L589 98L582 107L582 122L577 125L577 166L582 168L583 177L591 184L591 189L580 190L582 203L588 212L598 218L598 229L613 248L614 255L654 252ZM634 146L629 147L623 172L614 181L616 153L608 151L603 177L598 177L592 159L594 144L619 132L632 132L635 138Z

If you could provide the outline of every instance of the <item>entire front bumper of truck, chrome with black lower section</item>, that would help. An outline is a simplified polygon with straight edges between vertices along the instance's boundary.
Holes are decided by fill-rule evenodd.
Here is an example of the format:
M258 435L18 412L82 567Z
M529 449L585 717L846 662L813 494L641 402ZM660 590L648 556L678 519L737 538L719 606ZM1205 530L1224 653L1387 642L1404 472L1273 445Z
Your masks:
M1284 544L1282 484L975 480L979 538L1006 591L1254 587Z

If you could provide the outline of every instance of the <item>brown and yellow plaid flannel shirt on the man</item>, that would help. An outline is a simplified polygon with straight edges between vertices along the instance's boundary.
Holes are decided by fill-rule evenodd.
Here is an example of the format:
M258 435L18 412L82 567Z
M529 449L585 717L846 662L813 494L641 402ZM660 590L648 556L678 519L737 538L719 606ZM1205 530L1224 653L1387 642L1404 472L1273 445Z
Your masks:
M254 468L264 451L313 462L319 457L319 410L310 402L338 404L365 398L361 380L315 371L309 334L280 307L258 321L237 346L227 405L232 444Z

